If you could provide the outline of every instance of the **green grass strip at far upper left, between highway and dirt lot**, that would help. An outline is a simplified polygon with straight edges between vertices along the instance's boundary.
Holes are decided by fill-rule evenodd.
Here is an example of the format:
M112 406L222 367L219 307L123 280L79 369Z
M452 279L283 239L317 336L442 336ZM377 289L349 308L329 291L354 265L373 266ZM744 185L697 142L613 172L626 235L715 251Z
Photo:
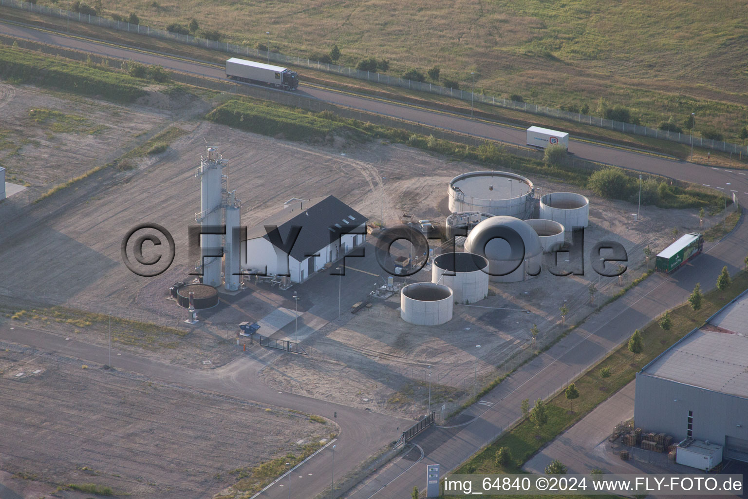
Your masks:
M146 95L144 82L132 76L7 46L0 46L0 77L114 102L134 102Z

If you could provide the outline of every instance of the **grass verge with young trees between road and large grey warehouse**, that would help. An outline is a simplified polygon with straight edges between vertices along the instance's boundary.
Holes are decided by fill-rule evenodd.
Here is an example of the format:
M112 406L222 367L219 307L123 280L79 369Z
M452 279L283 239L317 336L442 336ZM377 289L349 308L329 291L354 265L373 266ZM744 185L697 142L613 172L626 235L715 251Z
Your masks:
M661 352L672 346L693 328L702 325L705 319L716 313L717 310L720 310L727 302L747 288L747 272L738 272L732 278L732 284L727 290L723 292L711 290L705 293L703 307L698 312L695 313L691 310L688 304L670 310L672 327L669 331L660 328L657 321L651 322L641 330L644 339L644 351L642 353L635 355L629 352L625 343L614 349L607 358L604 358L603 361L574 381L580 393L579 398L568 400L561 392L548 401L548 423L538 429L530 420L521 421L509 432L504 433L488 447L468 459L456 473L523 473L521 466L524 465L524 462L527 462L527 459L530 459L545 444L548 444L610 395L631 382L642 367L649 364L657 355L660 355ZM601 375L601 370L604 369L608 373L607 377ZM533 405L533 401L530 401L530 405ZM611 425L614 423L616 422L612 421ZM512 452L512 462L506 467L497 465L494 460L494 456L500 447L509 447Z

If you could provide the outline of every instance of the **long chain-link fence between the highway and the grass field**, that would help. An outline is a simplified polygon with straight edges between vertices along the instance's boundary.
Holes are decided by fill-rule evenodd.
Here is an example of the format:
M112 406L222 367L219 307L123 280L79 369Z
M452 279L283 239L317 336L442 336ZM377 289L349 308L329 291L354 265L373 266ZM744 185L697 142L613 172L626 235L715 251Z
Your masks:
M101 16L92 16L72 12L70 10L45 7L43 5L32 4L27 1L0 0L0 5L13 7L29 12L41 13L46 16L55 16L68 21L86 22L88 24L101 26L104 28L127 31L129 33L144 34L149 37L161 38L164 40L174 40L188 45L199 46L206 49L214 49L229 54L243 55L245 57L257 58L260 61L269 63L287 64L298 67L307 67L313 70L335 73L338 75L349 76L351 78L367 80L384 85L392 85L400 88L408 88L414 91L429 92L430 94L446 95L470 102L481 102L482 104L496 105L503 108L516 109L532 114L560 118L562 120L576 121L601 128L613 129L619 132L633 133L634 135L643 135L645 137L662 138L668 141L678 142L680 144L693 144L697 147L706 147L712 150L720 150L726 153L745 153L748 155L748 146L741 146L725 141L716 141L714 139L695 137L688 133L669 132L650 126L637 125L634 123L624 123L622 121L607 120L605 118L590 116L589 114L575 113L571 111L562 111L561 109L550 108L548 106L530 104L528 102L518 102L515 100L504 99L481 93L468 92L457 88L447 88L443 85L435 85L427 82L418 82L410 79L402 79L399 76L390 76L372 71L357 70L350 67L340 66L331 63L321 63L309 58L300 58L292 55L281 54L270 49L260 50L253 49L249 46L239 45L236 43L221 42L220 40L208 40L202 37L195 37L191 34L180 34L166 31L163 29L150 28L149 26L131 24L126 21L115 21Z

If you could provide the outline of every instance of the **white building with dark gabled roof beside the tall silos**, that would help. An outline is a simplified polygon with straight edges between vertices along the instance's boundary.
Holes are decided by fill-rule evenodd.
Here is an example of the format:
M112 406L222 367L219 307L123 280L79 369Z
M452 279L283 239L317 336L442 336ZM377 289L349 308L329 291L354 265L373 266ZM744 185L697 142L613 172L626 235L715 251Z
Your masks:
M334 196L292 198L281 211L247 231L242 268L304 282L328 263L363 245L367 221ZM272 227L278 227L277 232ZM295 234L298 236L290 245Z

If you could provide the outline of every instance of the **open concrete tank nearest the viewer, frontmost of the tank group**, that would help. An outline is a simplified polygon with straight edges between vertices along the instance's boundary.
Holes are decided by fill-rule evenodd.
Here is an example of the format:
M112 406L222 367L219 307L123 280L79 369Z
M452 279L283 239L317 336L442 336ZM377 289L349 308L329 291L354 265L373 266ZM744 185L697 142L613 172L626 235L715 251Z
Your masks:
M400 290L400 318L416 325L440 325L452 319L453 293L441 284L414 283Z

